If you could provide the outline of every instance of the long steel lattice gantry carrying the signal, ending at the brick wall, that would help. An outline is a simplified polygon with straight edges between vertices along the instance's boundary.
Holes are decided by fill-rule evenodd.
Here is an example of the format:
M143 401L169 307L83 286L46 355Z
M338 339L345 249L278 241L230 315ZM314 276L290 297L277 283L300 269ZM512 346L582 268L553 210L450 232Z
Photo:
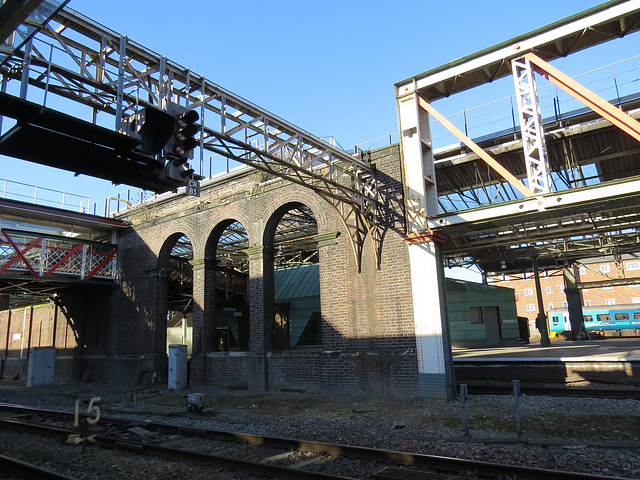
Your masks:
M196 155L199 152L201 162L205 152L212 152L266 172L267 178L284 178L312 189L340 214L358 264L364 239L369 236L374 243L377 241L377 186L374 168L367 161L78 12L69 8L58 12L24 49L4 62L0 73L3 92L10 91L14 83L18 85L14 90L19 90L14 98L3 93L0 113L16 118L23 128L25 124L32 127L23 136L15 135L14 143L10 138L5 142L0 139L0 154L20 155L27 134L33 135L34 130L49 134L63 125L65 141L74 135L72 131L84 132L79 134L83 138L76 143L78 149L87 144L104 147L97 155L100 165L84 165L78 159L63 168L78 173L86 168L88 174L103 178L113 172L117 183L148 190L172 189L176 185L157 182L163 159L140 155L136 151L139 141L119 132L125 131L127 120L145 107L166 111L170 104L178 104L199 114ZM44 92L44 102L55 94L56 98L70 100L74 110L82 106L84 118L95 128L50 109L44 111L43 119L28 102L27 86ZM24 108L17 97L28 102ZM33 114L26 116L22 113L25 109ZM34 152L38 155L44 154ZM118 177L115 170L126 175Z

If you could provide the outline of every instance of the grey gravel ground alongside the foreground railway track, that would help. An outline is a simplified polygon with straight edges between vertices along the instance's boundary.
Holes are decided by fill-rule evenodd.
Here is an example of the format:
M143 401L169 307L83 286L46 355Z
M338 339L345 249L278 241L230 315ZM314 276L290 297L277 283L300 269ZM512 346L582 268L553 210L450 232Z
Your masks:
M188 393L195 392L204 394L204 410L200 413L186 408ZM72 410L76 398L88 402L97 396L103 415L603 477L640 478L640 402L636 400L522 396L518 402L518 435L511 396L468 398L465 431L459 399L444 402L302 393L254 395L214 388L172 391L161 385L129 390L86 384L38 388L27 388L16 381L0 384L0 401L41 408ZM46 455L50 468L64 467L76 478L127 478L132 471L147 479L183 474L196 479L252 478L213 467L203 471L169 460L141 460L133 454L130 460L114 456L110 467L92 465L92 457L80 455L77 446L58 444L54 452L44 454L45 447L34 447L31 442L31 437L0 430L0 454L21 454L29 461L38 451ZM78 477L78 468L85 476Z

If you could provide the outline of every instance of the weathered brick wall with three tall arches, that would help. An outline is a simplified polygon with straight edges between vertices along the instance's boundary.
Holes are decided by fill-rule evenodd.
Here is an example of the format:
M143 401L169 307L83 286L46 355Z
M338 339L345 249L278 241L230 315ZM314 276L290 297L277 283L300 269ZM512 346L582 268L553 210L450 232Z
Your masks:
M108 342L109 381L134 382L144 368L163 376L166 330L163 296L165 257L186 234L194 261L211 258L215 232L239 221L249 239L250 351L213 352L202 338L211 329L207 267L194 271L194 355L191 380L227 388L325 392L417 392L417 364L398 146L371 153L380 185L381 243L365 239L358 271L349 231L336 209L308 188L251 172L207 184L201 197L159 197L126 213L132 227L119 240L119 286ZM302 203L314 213L318 233L336 231L335 242L319 247L323 346L274 352L271 232L286 205ZM377 268L376 258L380 259ZM165 282L166 284L166 282ZM206 306L206 308L205 308ZM196 345L201 347L196 348ZM131 361L135 355L140 361Z

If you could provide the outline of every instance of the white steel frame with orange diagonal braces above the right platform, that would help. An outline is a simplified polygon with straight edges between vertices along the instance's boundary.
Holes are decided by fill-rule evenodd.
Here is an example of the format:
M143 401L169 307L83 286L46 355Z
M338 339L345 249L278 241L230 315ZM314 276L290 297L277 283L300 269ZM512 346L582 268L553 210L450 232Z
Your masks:
M411 230L446 238L443 252L449 265L477 263L486 272L521 270L527 251L541 255L541 267L557 268L576 255L634 248L638 99L619 99L612 107L544 59L638 29L638 0L609 1L396 84L405 171L414 168L406 161L416 129L410 116L417 115L422 134L415 151L424 162L418 167L424 181L407 188L425 194L416 197L422 198L418 206L408 204L408 215L415 218ZM591 110L543 125L534 71ZM478 143L458 132L463 148L432 150L428 116L447 122L433 101L509 74L514 76L521 131L501 132ZM611 182L616 187L607 187Z

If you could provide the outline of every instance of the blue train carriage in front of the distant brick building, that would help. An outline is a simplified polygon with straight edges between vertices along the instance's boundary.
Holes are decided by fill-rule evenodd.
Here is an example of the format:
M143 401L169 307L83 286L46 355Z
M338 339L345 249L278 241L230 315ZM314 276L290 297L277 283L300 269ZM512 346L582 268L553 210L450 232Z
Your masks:
M582 307L582 317L589 335L640 336L640 304ZM555 332L556 335L570 335L571 322L567 308L550 309L549 325L551 332Z

